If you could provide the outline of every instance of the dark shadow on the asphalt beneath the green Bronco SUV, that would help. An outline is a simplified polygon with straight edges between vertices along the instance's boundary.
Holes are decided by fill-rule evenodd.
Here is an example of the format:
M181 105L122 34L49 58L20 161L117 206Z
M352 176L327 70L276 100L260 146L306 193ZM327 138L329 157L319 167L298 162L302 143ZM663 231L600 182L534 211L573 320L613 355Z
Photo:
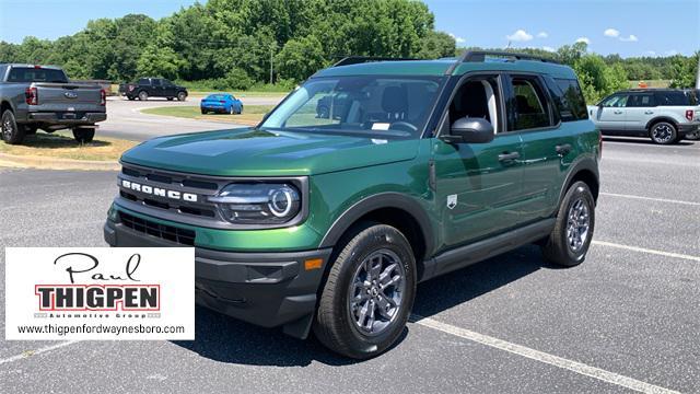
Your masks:
M538 247L521 247L419 285L413 313L429 317L541 268L557 267L542 260ZM277 367L304 367L312 361L329 366L361 362L335 355L313 335L307 340L294 339L281 329L261 328L200 306L196 310L195 328L195 340L173 344L219 362ZM408 332L407 327L395 346Z

